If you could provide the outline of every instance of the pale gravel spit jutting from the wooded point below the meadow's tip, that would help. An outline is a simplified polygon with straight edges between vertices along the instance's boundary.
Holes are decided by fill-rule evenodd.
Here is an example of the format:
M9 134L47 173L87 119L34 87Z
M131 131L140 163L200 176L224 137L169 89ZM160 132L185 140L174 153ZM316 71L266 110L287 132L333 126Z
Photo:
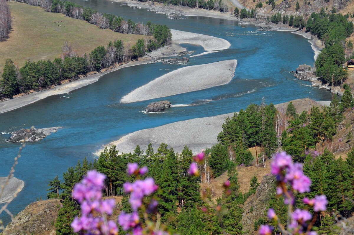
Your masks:
M172 41L177 44L201 45L205 51L225 50L231 46L230 42L222 38L216 38L204 34L190 33L171 29Z

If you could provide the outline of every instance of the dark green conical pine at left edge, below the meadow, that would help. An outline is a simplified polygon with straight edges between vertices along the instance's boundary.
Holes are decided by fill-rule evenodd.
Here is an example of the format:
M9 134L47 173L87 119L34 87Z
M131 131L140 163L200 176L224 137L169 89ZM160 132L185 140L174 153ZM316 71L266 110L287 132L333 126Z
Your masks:
M6 59L4 69L0 79L0 88L3 96L12 98L18 93L18 81L16 76L15 64L11 59Z

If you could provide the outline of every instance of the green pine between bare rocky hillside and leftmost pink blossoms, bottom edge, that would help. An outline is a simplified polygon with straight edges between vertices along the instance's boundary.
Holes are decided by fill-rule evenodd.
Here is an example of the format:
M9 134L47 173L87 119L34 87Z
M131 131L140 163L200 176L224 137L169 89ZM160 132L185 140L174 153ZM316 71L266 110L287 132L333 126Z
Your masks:
M57 235L73 235L74 231L71 227L75 216L79 215L77 204L66 197L63 206L59 209L58 217L55 223Z

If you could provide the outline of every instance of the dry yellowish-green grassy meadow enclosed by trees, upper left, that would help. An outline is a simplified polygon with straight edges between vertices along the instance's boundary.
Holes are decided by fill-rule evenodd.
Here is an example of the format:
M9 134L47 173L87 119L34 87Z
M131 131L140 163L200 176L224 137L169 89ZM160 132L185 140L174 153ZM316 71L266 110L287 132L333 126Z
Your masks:
M100 29L85 21L46 12L29 4L9 2L9 5L13 28L10 38L0 42L0 71L7 58L22 67L28 59L39 61L59 57L64 41L72 45L77 55L83 55L115 39L122 40L125 45L133 45L144 37Z

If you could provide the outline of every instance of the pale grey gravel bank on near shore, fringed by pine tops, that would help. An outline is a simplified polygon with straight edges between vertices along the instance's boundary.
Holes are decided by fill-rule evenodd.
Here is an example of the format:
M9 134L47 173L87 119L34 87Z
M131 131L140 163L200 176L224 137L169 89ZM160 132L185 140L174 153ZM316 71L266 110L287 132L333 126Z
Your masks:
M304 110L309 110L313 105L317 107L328 106L331 102L316 102L305 98L293 100L292 103L296 107L297 113L301 113ZM288 104L289 102L285 102L274 106L278 109L286 110ZM158 149L161 143L166 143L176 153L181 153L184 146L187 146L193 151L193 154L196 154L202 149L210 148L217 143L216 138L219 132L222 131L221 125L226 117L233 115L234 113L228 113L201 117L136 131L104 145L95 152L95 155L99 156L105 147L109 148L112 145L116 145L121 153L130 153L134 151L136 145L139 145L141 149L146 149L149 143L153 145L154 149Z

